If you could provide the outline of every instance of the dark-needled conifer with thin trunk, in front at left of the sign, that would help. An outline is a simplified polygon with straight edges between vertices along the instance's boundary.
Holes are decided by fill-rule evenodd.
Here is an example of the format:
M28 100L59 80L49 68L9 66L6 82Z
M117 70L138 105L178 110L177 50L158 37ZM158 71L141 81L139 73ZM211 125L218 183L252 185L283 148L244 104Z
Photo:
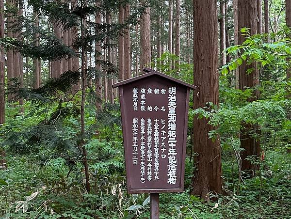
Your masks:
M72 59L72 69L67 70L68 62L66 62L64 64L65 71L61 72L60 75L60 66L57 69L52 68L51 74L54 77L50 78L43 86L36 89L20 87L16 90L17 98L29 101L36 109L34 113L44 113L45 118L25 132L9 132L5 143L17 153L36 153L42 148L39 145L46 144L46 148L53 152L54 156L81 161L84 166L86 189L87 192L90 192L90 173L85 145L90 136L95 133L98 124L86 128L85 111L87 103L90 104L89 99L91 99L88 98L88 94L95 94L96 91L96 94L100 95L101 69L103 69L103 78L114 78L117 75L117 68L112 62L101 60L100 57L101 47L112 48L111 42L118 38L121 30L116 23L101 24L100 15L110 12L110 10L117 10L117 8L115 3L110 0L86 2L74 0L72 4L58 0L54 2L51 0L32 0L30 4L35 11L42 11L39 20L47 19L43 15L48 16L58 32L51 34L44 27L37 28L32 25L34 24L33 19L22 17L23 20L25 19L25 28L22 34L33 39L37 33L39 44L36 45L34 40L27 42L18 40L15 43L17 51L32 59L50 62L61 63L62 59ZM87 19L92 16L96 19ZM134 19L134 17L129 17L128 20L133 22ZM95 31L91 31L91 27L96 27ZM68 42L62 42L59 37L59 32L66 32L69 35L69 31L71 31L72 45L68 45ZM65 41L69 41L68 39L69 37ZM96 47L94 48L92 45L96 45ZM94 49L96 51L96 66L90 68L86 61L86 54L92 53ZM108 56L109 54L111 55L108 53ZM81 60L80 67L79 59ZM95 81L96 84L91 85L88 83L90 80ZM77 84L81 85L81 90L78 91L78 88L77 91L71 92L72 86ZM77 98L80 95L81 101ZM99 100L100 98L97 102ZM101 103L98 102L96 106L100 108ZM65 132L63 123L71 117L80 118L79 134L69 140L63 139L59 133Z

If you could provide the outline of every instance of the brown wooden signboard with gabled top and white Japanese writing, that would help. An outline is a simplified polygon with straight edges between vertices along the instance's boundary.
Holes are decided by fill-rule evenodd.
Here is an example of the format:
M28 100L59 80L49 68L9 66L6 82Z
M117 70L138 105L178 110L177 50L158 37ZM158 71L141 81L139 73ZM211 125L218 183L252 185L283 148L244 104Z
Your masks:
M129 193L182 192L188 103L195 86L150 68L119 88Z

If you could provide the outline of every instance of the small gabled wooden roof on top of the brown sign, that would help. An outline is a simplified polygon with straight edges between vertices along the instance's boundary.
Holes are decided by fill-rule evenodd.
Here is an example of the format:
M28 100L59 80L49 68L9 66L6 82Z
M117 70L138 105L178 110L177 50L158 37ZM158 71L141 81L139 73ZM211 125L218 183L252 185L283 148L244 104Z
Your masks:
M174 83L178 83L178 84L181 84L181 85L183 85L183 86L186 86L186 87L188 87L188 88L190 88L190 89L192 89L192 90L197 89L197 87L194 86L194 85L192 85L192 84L188 84L188 83L186 83L186 82L184 82L184 81L181 81L181 80L179 80L179 79L177 79L177 78L173 78L173 77L171 77L171 76L168 76L168 75L166 75L166 74L163 74L163 73L161 73L161 72L158 72L158 71L156 71L156 70L154 70L154 69L151 69L151 68L145 67L143 71L146 72L146 73L143 74L143 75L140 75L140 76L134 77L134 78L129 78L129 79L127 79L127 80L123 80L123 81L120 81L120 82L118 82L118 83L115 83L115 84L112 85L112 87L113 87L113 88L116 88L116 87L119 87L119 86L121 86L121 85L129 84L129 83L131 83L131 82L133 82L133 81L140 80L140 79L143 79L143 78L147 78L147 77L152 76L152 75L158 75L158 76L160 76L160 77L162 77L162 78L166 78L166 79L168 79L168 80L171 80L171 81L173 81Z

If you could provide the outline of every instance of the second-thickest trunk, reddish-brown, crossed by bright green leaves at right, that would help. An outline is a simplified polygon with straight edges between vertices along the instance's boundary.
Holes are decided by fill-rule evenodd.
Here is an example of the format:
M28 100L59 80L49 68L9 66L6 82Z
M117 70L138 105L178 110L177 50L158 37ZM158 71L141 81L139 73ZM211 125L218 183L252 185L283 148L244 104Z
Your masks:
M238 2L238 25L239 29L243 27L249 28L250 35L257 34L258 32L258 17L257 17L257 1L244 0ZM239 34L239 44L242 44L245 37ZM253 71L247 74L247 70L252 68ZM245 90L246 87L252 88L259 85L259 71L256 63L242 63L239 66L239 89ZM253 97L248 101L255 101L259 98L259 91L256 90ZM256 165L251 164L249 160L245 158L247 156L259 156L260 145L251 133L258 133L258 127L256 125L242 124L241 129L241 148L244 151L241 153L242 158L242 170L249 170L255 172L258 168Z

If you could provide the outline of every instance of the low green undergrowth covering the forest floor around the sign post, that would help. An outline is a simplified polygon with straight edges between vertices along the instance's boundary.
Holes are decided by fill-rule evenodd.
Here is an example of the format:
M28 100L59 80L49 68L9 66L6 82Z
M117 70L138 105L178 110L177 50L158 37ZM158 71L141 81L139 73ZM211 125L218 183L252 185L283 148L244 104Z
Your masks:
M216 201L207 203L190 196L189 189L179 194L161 194L161 219L291 218L290 155L272 153L274 165L262 172L261 177L245 179L239 186L231 183L232 173L227 172L230 168L224 167L224 187L229 193L217 196ZM92 175L92 191L87 194L78 171L81 166L67 176L67 166L57 162L44 164L33 160L33 156L8 156L7 163L7 169L1 170L0 174L0 219L149 218L148 203L143 206L148 194L127 194L122 174L116 175L114 181L111 177L111 182L106 175L98 181ZM190 180L188 170L186 184L190 184ZM234 185L240 189L237 194L233 193L236 190ZM127 211L129 206L135 210Z

